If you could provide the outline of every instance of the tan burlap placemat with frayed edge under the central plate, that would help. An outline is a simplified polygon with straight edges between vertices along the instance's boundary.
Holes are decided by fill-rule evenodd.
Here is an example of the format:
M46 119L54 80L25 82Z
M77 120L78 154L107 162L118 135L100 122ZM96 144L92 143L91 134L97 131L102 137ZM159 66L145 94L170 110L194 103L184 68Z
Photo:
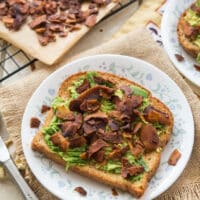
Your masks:
M184 92L193 112L195 120L195 144L192 157L173 186L158 199L199 199L200 198L200 101L191 88L175 70L164 51L157 46L145 29L136 30L117 40L110 41L97 48L82 53L78 57L102 53L123 54L143 59L167 73ZM77 58L77 57L76 57ZM0 89L0 110L9 133L16 145L17 160L25 163L21 148L20 125L26 104L33 91L44 78L58 66L41 68L26 78ZM176 94L174 94L176 95ZM184 155L182 155L184 156ZM26 167L24 176L40 199L54 199L32 176Z

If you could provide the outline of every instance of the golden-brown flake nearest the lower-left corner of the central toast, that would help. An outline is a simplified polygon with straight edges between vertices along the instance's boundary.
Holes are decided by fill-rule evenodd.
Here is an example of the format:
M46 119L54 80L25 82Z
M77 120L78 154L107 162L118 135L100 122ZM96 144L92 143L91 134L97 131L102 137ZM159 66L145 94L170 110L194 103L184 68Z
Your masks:
M62 151L66 151L69 147L69 142L62 136L60 132L54 133L50 140L54 145L58 146Z

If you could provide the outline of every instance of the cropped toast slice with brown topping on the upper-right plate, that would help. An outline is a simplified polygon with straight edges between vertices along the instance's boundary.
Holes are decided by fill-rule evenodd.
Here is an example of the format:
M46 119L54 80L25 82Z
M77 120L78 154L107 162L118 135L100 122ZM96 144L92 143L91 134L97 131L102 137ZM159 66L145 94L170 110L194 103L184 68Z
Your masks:
M191 25L189 23L189 19L186 20L186 15L188 12L193 12L199 14L199 11L195 9L196 5L192 4L190 8L186 9L185 12L179 18L178 26L177 26L177 34L178 40L184 50L194 58L197 58L200 47L194 43L197 39L198 35L200 34L199 28L196 25ZM194 9L194 10L193 10Z

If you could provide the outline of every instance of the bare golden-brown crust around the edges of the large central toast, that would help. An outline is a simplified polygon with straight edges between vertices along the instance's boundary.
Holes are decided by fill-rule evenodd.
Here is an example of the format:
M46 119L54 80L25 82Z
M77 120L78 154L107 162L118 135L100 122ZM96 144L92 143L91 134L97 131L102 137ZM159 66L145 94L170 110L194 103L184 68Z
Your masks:
M68 88L74 80L77 80L82 75L85 75L85 73L86 72L81 72L81 73L72 75L69 78L67 78L62 83L61 87L59 88L58 96L60 96L62 98L67 98L69 94L67 93L66 88ZM137 85L137 86L143 88L139 84L136 84L125 78L121 78L121 77L118 77L118 76L115 76L115 75L109 74L109 73L102 73L102 72L98 72L98 73L100 74L100 76L102 76L104 78L106 77L106 78L109 78L112 80L117 80L117 83L119 83L119 85L120 84L133 84L133 85ZM143 89L145 89L145 88L143 88ZM145 90L148 91L147 89L145 89ZM149 99L150 99L151 104L154 105L155 107L158 107L161 111L168 113L169 118L170 118L170 126L169 126L168 130L166 130L166 134L161 136L161 140L160 140L161 146L164 147L167 144L167 142L169 141L170 136L171 136L171 132L172 132L172 128L173 128L173 116L172 116L172 113L170 112L170 110L167 108L167 106L165 106L157 98L152 97L152 95L149 91L148 91L148 93L149 93ZM52 117L53 117L53 111L50 110L47 113L44 127L48 126L48 124L51 122ZM62 160L62 158L49 149L49 147L47 146L47 144L44 141L43 134L41 131L39 131L35 135L35 137L32 141L32 149L43 153L49 159L55 161L58 164L65 166L65 162ZM145 172L142 179L139 181L136 181L134 183L131 183L130 181L127 181L126 179L122 178L121 175L106 173L106 172L98 170L98 169L94 168L93 166L89 166L89 165L75 166L75 167L71 167L70 169L81 175L90 177L90 178L97 180L99 182L102 182L104 184L119 188L124 191L128 191L129 193L133 194L136 197L140 197L143 195L144 191L146 190L148 181L152 178L152 176L155 174L157 168L159 167L160 158L161 158L160 152L154 151L154 152L146 153L144 155L144 160L146 161L146 163L149 167L149 172Z

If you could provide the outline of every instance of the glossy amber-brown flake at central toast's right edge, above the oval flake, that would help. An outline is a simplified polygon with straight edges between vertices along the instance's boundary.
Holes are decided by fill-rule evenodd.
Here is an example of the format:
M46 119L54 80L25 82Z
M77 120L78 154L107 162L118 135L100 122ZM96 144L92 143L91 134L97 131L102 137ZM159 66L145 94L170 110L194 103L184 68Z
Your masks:
M159 122L160 124L169 125L170 118L169 115L165 112L162 112L153 106L148 106L144 110L144 117L148 122Z

